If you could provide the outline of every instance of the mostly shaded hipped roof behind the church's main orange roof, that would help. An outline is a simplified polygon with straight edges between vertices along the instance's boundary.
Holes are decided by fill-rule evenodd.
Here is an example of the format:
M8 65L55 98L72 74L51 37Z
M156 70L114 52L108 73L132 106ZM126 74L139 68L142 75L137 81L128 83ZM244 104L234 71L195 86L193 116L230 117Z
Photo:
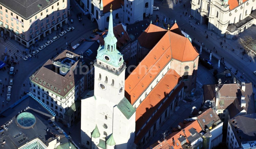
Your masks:
M142 47L152 49L164 36L167 30L150 24L147 29L138 37L138 42Z

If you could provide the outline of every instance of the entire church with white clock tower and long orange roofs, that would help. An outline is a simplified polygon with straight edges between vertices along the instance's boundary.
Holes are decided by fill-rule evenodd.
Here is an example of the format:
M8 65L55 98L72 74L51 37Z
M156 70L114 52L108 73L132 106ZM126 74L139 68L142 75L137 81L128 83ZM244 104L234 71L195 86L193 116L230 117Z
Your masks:
M81 142L94 149L145 148L179 108L184 90L193 90L199 54L176 23L168 30L150 24L138 41L154 46L125 79L111 20L112 13L94 61L94 91L81 103Z

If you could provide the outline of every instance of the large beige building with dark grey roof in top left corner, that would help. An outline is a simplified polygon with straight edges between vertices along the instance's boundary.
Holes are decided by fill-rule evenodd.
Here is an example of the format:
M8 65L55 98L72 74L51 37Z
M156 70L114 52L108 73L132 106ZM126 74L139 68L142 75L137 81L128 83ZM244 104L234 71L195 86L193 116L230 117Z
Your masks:
M29 47L68 23L69 0L1 0L0 29Z

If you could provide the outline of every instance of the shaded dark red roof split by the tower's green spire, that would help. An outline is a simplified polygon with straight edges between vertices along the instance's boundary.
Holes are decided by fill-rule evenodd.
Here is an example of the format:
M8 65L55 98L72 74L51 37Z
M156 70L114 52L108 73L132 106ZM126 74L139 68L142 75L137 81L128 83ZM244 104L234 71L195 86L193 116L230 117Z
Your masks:
M93 38L92 40L99 40L100 41L100 43L99 43L100 45L105 45L103 35L107 35L107 32L108 32L108 30L105 30L104 32L102 32L102 35L97 34L95 36L95 38ZM114 26L113 27L113 32L114 32L114 35L115 35L115 37L117 39L116 48L118 50L120 50L120 48L123 45L125 45L128 41L130 41L129 35L124 30L122 24L118 24L118 25Z

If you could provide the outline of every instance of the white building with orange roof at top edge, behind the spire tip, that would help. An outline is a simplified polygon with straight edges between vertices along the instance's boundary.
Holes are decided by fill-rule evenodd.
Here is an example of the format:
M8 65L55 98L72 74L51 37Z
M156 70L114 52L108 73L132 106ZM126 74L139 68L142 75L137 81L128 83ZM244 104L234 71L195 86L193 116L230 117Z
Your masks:
M132 24L153 14L154 0L83 0L84 9L90 13L91 21L97 21L99 29L108 27L110 6L115 24ZM142 9L143 8L143 9Z

